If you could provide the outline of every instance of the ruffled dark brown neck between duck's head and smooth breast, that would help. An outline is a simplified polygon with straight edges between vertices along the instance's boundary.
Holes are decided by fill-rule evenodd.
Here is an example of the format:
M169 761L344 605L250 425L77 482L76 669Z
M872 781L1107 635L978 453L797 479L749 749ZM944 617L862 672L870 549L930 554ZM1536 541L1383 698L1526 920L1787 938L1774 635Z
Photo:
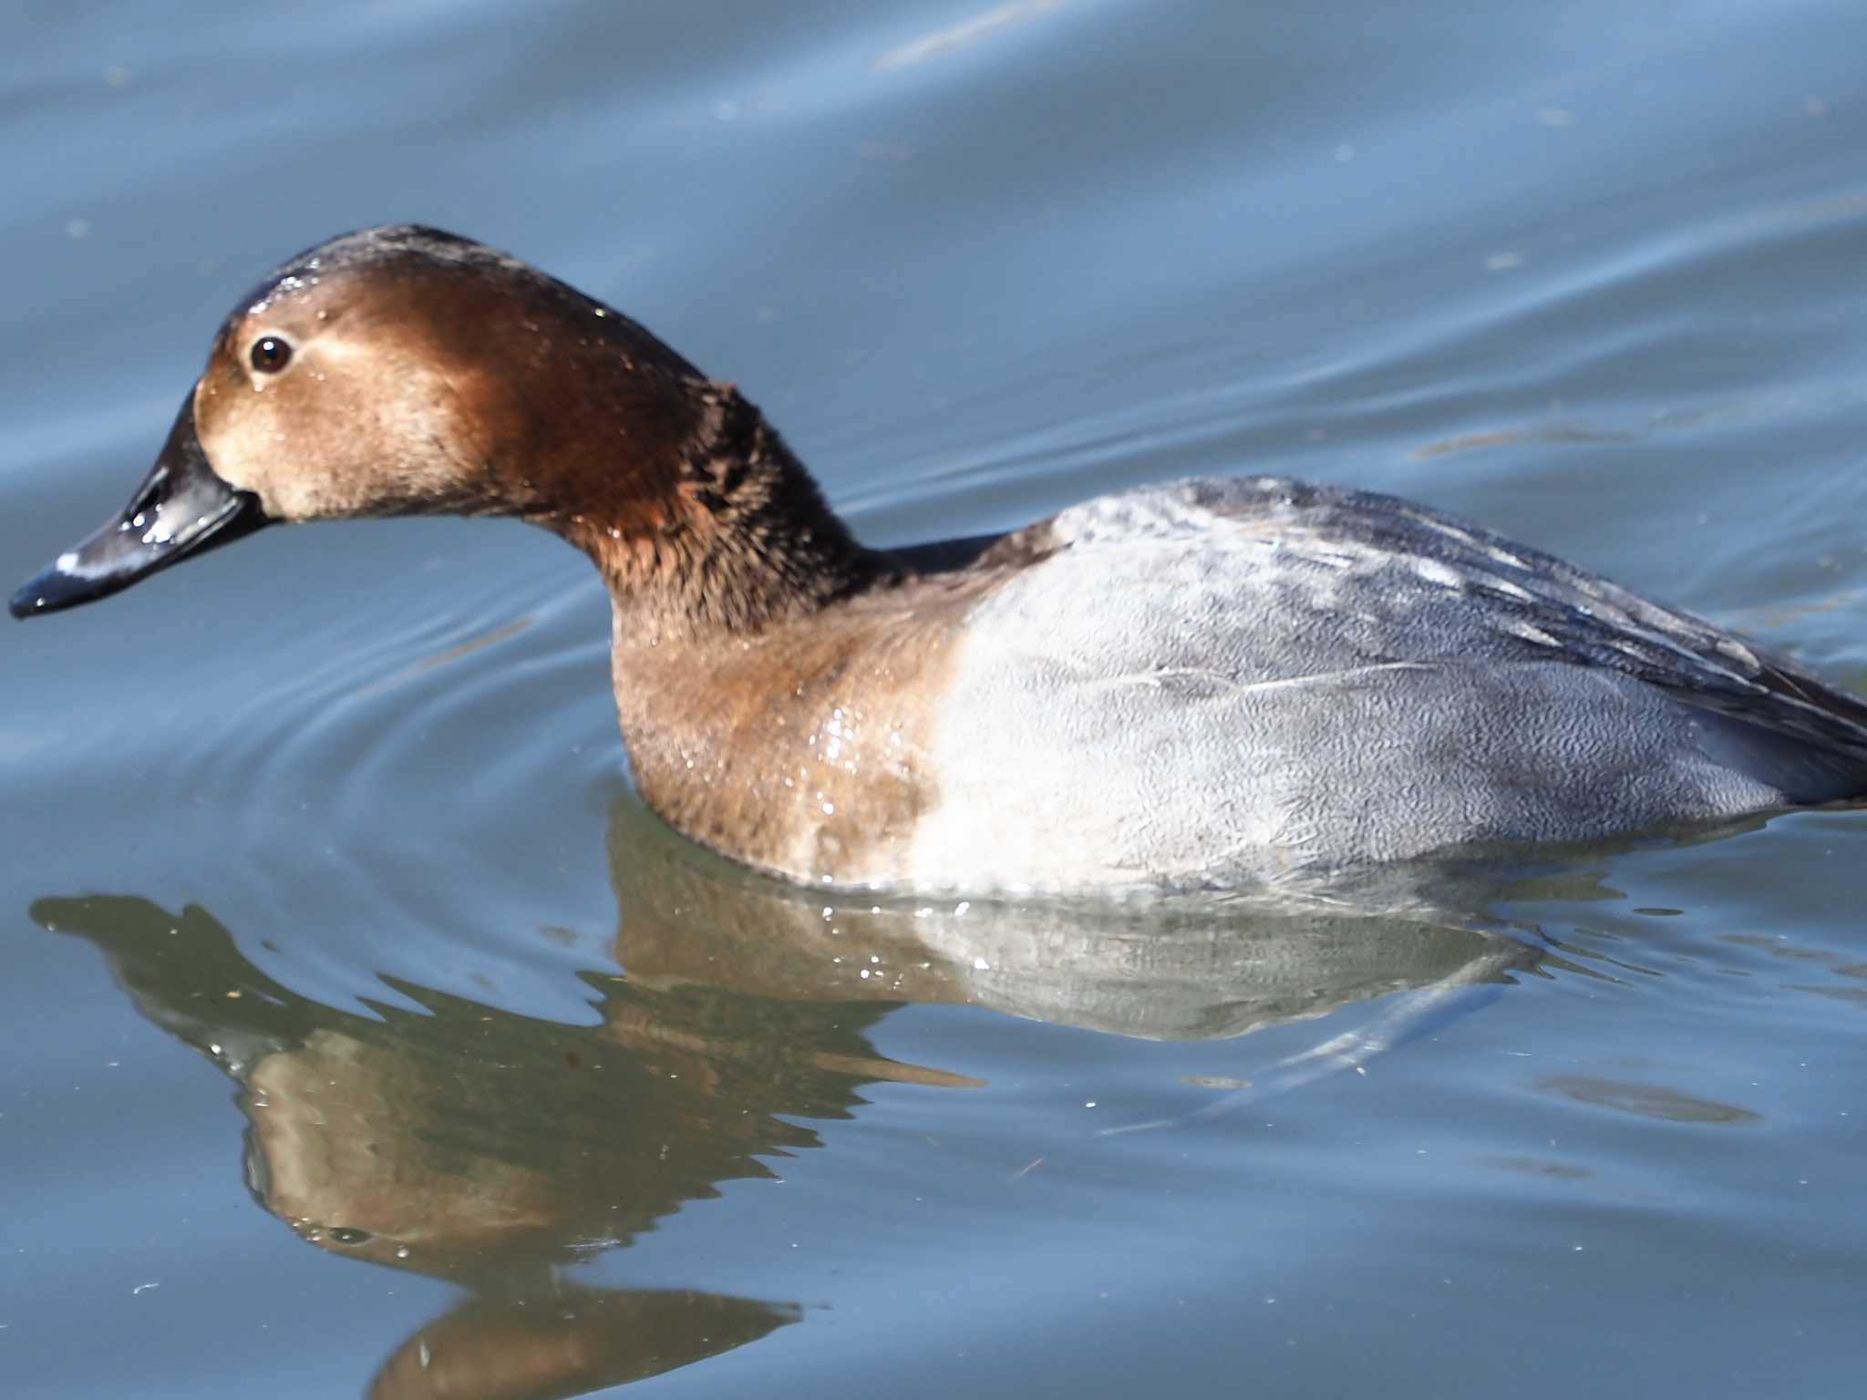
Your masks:
M652 510L562 523L609 584L620 648L752 637L896 573L732 385L704 385L696 407Z

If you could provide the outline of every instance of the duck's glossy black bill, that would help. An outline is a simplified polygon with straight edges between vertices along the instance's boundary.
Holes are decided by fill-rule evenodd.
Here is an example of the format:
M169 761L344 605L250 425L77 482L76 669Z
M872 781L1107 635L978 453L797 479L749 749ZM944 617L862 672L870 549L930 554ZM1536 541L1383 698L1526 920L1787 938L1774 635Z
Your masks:
M260 498L235 491L207 465L194 435L194 394L189 394L155 467L123 513L60 554L52 567L13 594L7 609L15 618L35 618L108 597L261 525Z

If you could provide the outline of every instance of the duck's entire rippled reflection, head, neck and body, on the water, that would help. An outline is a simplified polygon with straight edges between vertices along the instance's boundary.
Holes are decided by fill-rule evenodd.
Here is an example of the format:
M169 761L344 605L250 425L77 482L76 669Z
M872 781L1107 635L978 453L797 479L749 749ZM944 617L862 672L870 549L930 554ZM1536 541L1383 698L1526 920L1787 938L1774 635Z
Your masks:
M797 1322L788 1303L579 1286L564 1266L820 1146L797 1120L849 1116L866 1083L976 1085L877 1055L868 1029L902 1002L1210 1038L1383 993L1430 1001L1537 958L1314 907L870 905L739 872L633 805L612 816L611 872L627 974L586 974L601 1019L579 1027L407 984L422 1012L336 1010L198 907L41 900L34 917L95 943L147 1019L233 1077L269 1211L469 1290L379 1370L385 1400L584 1394Z

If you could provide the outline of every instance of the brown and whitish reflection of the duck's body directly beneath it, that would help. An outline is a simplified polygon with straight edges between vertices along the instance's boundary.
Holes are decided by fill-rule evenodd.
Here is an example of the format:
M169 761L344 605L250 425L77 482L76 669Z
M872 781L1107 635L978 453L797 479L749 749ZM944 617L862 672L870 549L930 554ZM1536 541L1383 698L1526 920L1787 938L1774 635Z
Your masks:
M696 849L637 803L611 812L616 959L631 984L965 1002L1152 1040L1238 1036L1395 991L1497 980L1537 961L1540 948L1447 913L1482 907L1494 879L1383 875L1380 887L1339 889L1314 903L877 905L756 875ZM1576 894L1574 877L1563 894ZM1421 913L1365 913L1402 907Z

